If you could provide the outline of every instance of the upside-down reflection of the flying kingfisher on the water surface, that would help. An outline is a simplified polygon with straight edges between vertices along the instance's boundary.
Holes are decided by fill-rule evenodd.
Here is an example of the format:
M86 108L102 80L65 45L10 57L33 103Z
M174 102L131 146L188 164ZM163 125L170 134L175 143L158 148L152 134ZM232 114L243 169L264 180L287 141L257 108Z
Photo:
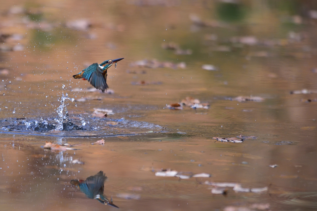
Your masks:
M100 203L110 205L115 208L119 208L109 201L106 196L103 195L104 182L107 176L103 171L99 171L95 176L89 176L86 180L71 180L70 184L75 185L81 192L83 192L90 199L97 199Z

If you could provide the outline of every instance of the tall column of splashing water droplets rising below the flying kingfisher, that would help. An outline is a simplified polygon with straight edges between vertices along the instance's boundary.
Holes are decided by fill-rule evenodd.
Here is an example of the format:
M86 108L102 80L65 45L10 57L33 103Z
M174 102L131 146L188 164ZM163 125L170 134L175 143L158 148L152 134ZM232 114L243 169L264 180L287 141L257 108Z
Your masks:
M57 122L55 130L58 131L62 131L64 129L64 124L65 126L72 124L68 118L68 111L65 105L65 100L70 100L73 102L75 99L69 98L67 93L66 96L64 96L64 93L62 93L61 100L59 100L61 102L61 105L56 109L58 119L55 118L55 121Z

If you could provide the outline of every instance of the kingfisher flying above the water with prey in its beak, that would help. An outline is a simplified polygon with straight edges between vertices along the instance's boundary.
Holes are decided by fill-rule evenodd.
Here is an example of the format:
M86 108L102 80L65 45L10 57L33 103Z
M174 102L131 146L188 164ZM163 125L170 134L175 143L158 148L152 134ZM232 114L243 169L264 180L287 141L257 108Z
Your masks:
M101 64L94 63L89 67L83 69L79 74L73 75L74 79L81 78L82 80L88 80L91 85L93 85L96 89L100 89L103 93L108 88L107 85L107 70L109 67L115 64L117 66L117 62L123 60L124 58L114 59L114 60L106 60Z

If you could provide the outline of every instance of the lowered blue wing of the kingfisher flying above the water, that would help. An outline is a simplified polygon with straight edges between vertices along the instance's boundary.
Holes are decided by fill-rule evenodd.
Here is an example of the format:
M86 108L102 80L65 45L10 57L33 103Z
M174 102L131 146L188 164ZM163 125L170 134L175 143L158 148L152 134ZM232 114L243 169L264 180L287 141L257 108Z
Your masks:
M102 75L102 71L98 67L98 63L94 63L83 70L82 78L89 81L96 89L100 89L102 92L108 88L106 79Z

